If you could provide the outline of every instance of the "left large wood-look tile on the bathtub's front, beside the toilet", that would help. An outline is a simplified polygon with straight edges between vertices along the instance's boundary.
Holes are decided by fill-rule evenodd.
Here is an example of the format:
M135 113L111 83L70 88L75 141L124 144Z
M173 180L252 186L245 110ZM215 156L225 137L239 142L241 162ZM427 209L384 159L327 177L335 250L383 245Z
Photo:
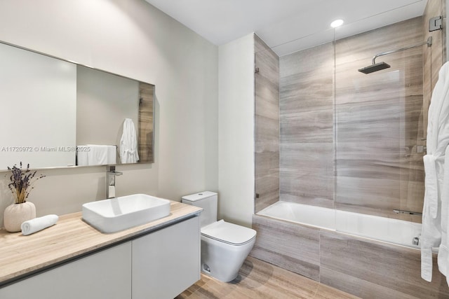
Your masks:
M319 229L253 215L257 237L250 256L319 280Z

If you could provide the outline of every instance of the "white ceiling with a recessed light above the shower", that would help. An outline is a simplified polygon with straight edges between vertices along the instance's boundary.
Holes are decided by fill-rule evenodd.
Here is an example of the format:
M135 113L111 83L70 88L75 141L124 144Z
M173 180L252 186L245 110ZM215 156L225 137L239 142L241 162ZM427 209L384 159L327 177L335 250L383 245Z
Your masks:
M427 0L145 0L220 46L255 32L279 55L422 15ZM343 19L335 30L330 22Z

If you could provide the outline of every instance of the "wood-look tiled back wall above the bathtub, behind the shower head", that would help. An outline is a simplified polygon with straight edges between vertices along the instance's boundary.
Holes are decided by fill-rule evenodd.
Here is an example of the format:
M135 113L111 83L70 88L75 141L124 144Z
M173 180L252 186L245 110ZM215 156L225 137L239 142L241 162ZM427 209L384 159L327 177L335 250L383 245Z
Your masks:
M393 209L422 210L423 49L382 57L391 69L357 69L424 41L424 23L413 18L280 58L280 200L420 221Z

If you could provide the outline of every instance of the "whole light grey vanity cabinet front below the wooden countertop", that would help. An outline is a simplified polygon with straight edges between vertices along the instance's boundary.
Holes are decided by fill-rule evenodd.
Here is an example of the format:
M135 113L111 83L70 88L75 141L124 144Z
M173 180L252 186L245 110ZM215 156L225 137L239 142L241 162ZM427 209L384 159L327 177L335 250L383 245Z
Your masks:
M1 299L173 299L200 279L199 216L0 288Z

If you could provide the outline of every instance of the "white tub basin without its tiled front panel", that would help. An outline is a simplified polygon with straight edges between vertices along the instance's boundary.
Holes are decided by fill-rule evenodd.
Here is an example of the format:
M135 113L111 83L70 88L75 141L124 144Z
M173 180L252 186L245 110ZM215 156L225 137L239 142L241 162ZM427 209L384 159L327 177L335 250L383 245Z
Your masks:
M282 201L257 214L415 249L420 248L413 245L413 238L420 236L421 223Z

